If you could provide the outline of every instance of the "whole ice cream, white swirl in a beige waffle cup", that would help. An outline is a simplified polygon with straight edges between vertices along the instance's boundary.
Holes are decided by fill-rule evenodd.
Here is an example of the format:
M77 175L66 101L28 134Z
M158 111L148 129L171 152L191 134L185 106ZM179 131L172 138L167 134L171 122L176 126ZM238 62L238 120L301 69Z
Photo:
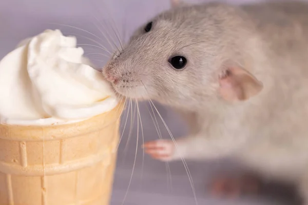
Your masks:
M0 61L0 204L109 205L119 102L74 37L47 30Z

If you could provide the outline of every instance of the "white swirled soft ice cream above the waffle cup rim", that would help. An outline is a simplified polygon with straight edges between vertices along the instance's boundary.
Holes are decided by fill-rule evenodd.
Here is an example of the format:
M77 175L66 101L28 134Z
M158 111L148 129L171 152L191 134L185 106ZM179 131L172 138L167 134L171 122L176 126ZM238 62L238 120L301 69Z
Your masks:
M84 120L118 105L76 38L46 30L0 61L0 123L53 125Z

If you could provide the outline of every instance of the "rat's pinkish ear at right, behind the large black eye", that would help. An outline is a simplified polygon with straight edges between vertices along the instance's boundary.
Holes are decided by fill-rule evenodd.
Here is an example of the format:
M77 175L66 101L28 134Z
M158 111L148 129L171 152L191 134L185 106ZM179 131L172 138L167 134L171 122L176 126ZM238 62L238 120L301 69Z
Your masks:
M247 100L263 89L263 84L253 74L240 67L225 69L219 84L219 93L227 101Z

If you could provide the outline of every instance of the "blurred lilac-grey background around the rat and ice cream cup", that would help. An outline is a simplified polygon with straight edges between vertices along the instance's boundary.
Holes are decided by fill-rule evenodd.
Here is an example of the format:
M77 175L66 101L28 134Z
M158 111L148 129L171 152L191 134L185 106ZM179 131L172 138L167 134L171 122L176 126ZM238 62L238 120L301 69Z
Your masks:
M108 47L102 31L105 35L110 35L108 37L110 40L117 39L113 30L119 31L122 39L127 39L140 24L168 8L167 0L0 0L0 58L11 51L21 39L45 29L59 28L66 35L76 35L79 43L85 48L86 55L98 67L102 67L107 58L101 54L107 53L98 46L101 44ZM140 104L144 140L157 139L158 134L147 106L147 103ZM175 137L185 134L185 126L175 113L159 105L157 108ZM126 114L127 112L123 114L123 121L126 120ZM159 116L157 114L155 116L158 118L163 137L170 138ZM196 204L182 162L170 163L171 174L169 174L165 163L152 160L146 155L143 160L143 152L140 149L143 141L141 131L136 166L128 189L136 152L137 118L133 121L131 139L125 149L130 131L129 121L130 115L119 148L112 204L123 204L124 198L124 204L127 205ZM289 197L291 192L271 186L268 186L261 196L239 200L212 198L207 190L211 176L226 170L238 172L236 166L227 160L187 162L187 164L195 183L199 204L295 204L292 197Z

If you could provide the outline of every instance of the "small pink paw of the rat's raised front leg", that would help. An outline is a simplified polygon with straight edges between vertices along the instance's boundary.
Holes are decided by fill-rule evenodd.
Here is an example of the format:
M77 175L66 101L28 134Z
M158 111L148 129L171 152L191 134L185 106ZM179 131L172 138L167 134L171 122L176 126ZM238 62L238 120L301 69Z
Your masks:
M143 145L144 152L149 154L153 159L161 161L171 161L174 159L175 144L171 140L149 141Z

